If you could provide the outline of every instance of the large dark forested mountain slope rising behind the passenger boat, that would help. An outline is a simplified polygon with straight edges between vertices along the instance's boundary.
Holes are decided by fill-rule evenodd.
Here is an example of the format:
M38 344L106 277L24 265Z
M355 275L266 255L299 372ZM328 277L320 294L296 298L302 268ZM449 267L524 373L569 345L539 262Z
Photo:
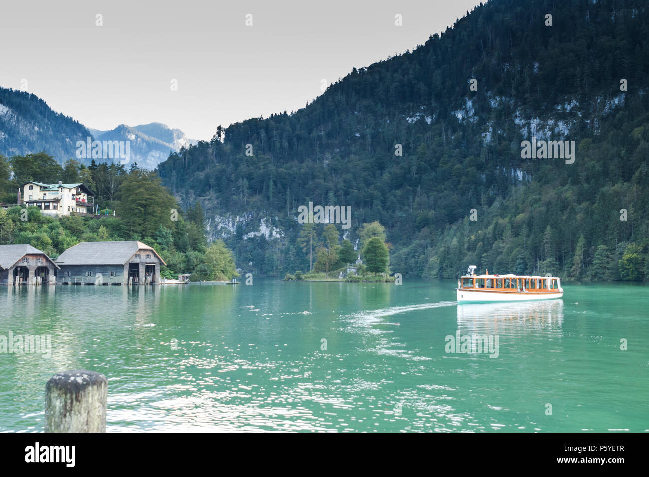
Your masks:
M305 108L219 128L158 170L186 206L201 201L237 263L265 275L308 268L296 217L313 201L352 206L341 230L352 241L363 223L384 224L404 276L474 264L643 279L647 6L489 1ZM522 158L532 137L575 141L574 162Z

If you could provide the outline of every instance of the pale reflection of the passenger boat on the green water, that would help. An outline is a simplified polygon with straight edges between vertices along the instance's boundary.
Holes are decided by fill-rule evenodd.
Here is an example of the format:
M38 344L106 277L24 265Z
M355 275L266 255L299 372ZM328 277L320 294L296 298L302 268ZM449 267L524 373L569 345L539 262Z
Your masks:
M458 304L458 330L520 336L526 332L559 332L563 300Z

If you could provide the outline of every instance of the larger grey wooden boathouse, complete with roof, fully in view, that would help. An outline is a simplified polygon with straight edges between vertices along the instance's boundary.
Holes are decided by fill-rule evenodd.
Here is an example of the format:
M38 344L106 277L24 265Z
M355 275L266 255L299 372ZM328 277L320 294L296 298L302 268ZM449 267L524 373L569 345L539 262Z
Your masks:
M70 285L149 285L160 283L160 265L153 248L140 241L82 242L56 259L56 282Z

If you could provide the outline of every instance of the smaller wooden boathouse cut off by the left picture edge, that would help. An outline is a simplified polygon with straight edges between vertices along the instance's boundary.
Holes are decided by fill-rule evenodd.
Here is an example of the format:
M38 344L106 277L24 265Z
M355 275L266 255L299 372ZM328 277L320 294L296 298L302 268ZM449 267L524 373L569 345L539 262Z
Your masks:
M0 284L53 285L58 265L31 245L0 245Z

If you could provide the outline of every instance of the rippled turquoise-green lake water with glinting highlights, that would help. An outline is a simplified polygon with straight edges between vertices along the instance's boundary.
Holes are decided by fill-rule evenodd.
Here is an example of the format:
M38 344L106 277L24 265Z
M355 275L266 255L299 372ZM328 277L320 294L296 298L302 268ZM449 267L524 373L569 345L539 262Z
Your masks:
M0 354L0 431L42 431L67 369L108 378L108 432L649 431L649 286L461 306L455 286L0 287L0 335L52 336L50 358ZM458 332L493 352L447 352Z

